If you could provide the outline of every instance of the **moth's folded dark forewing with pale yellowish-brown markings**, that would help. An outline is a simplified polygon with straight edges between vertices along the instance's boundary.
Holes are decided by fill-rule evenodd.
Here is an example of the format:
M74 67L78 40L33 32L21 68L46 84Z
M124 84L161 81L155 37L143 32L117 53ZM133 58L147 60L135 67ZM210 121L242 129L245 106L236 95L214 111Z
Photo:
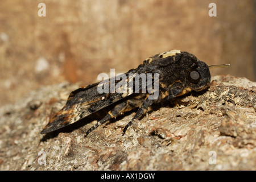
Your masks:
M138 71L138 72L137 72ZM129 75L129 72L125 74L126 79L123 81L123 86L125 92L118 92L120 90L114 89L114 93L110 93L110 87L108 93L99 93L98 86L103 84L102 82L97 82L88 86L82 86L81 88L74 90L68 97L67 104L59 112L55 114L53 118L50 119L48 125L42 130L42 134L55 131L67 125L71 125L79 121L80 119L87 117L88 115L107 107L114 102L117 102L127 96L130 96L133 93L141 93L141 90L144 90L148 87L148 82L141 82L139 86L136 86L136 82L133 81L133 90L130 90L130 82L134 79L135 76L138 76L141 73L151 73L152 70L149 69L146 72L137 70L135 73ZM115 77L117 78L117 77ZM108 85L111 86L111 79L105 80L108 82ZM121 81L120 78L115 79L114 85L116 86ZM151 84L154 83L154 74Z

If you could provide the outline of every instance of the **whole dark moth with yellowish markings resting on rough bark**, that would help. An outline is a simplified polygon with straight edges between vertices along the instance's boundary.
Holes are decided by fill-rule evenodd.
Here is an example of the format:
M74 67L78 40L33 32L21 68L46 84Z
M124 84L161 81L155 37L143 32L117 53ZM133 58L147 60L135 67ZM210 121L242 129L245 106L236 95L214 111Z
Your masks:
M146 113L148 107L152 104L171 101L175 97L189 92L199 92L207 89L210 84L209 68L226 67L228 65L208 67L207 64L191 53L179 50L158 53L144 60L138 68L130 69L123 75L126 77L122 77L122 79L116 76L114 79L105 80L105 82L81 86L81 88L71 92L67 104L50 119L41 133L45 134L61 129L112 106L105 117L86 132L85 135L88 135L110 119L138 107L134 117L124 127L124 135L133 121ZM142 80L140 76L143 74L147 74L149 77ZM137 82L134 81L136 78ZM138 81L140 78L141 81ZM115 89L118 85L121 86ZM99 92L99 88L103 87L107 92Z

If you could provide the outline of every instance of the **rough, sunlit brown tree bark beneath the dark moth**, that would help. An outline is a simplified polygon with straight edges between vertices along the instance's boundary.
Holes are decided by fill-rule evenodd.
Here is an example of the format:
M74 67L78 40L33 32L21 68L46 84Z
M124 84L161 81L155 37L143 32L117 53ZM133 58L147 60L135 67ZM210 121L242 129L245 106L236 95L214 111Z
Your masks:
M256 83L215 76L210 88L153 106L122 136L134 113L40 131L79 84L46 86L0 108L1 170L255 170ZM46 159L46 160L44 160Z

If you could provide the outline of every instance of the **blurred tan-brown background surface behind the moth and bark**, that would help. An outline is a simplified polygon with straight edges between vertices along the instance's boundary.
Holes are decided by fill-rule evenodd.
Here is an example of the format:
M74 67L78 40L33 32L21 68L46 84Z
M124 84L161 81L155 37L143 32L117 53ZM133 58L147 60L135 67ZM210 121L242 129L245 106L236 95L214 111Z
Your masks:
M255 10L255 0L1 0L0 106L41 86L125 73L170 49L231 64L212 75L255 81Z

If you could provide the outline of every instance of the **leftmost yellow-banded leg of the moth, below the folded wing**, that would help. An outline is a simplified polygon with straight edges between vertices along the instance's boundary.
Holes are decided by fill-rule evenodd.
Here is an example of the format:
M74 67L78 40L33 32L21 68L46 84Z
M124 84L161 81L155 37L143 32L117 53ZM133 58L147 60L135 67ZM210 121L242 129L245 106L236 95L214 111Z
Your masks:
M109 111L104 118L102 118L93 127L91 127L88 131L86 131L85 136L87 136L90 132L95 130L98 126L103 125L105 122L109 121L110 119L118 117L119 115L122 115L124 112L130 111L135 107L141 106L142 104L143 104L143 100L141 98L133 98L125 102L122 102L121 104L118 104L117 106L114 107L114 109Z

